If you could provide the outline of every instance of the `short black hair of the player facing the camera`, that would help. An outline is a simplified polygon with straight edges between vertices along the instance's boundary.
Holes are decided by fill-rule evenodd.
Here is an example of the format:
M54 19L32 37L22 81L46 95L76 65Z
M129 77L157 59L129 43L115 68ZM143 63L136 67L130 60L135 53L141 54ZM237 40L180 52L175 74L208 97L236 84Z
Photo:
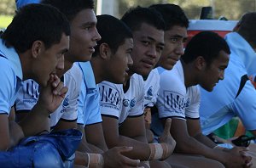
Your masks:
M159 12L154 8L130 8L122 17L126 25L131 28L131 31L137 31L143 23L154 26L158 30L165 31L165 22Z

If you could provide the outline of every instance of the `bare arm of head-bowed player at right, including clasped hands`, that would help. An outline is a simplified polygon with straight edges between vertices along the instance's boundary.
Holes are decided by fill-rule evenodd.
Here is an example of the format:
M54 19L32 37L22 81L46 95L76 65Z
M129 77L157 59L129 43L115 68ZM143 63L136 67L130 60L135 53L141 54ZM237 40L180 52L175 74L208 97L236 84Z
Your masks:
M191 123L188 122L188 124ZM239 148L234 148L233 151L229 152L209 148L207 145L195 139L195 137L189 136L189 133L192 135L196 134L192 132L193 129L189 129L188 132L187 127L190 126L187 126L186 120L172 119L171 133L177 142L177 152L183 154L200 154L209 159L218 160L226 167L242 167L245 165L246 159L241 157Z

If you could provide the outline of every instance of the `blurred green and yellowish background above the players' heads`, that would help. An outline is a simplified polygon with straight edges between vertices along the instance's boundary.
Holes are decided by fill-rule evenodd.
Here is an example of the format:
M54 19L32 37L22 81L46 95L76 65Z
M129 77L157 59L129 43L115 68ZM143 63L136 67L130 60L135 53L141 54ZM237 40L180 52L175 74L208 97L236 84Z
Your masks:
M202 7L212 7L211 19L239 20L246 12L256 11L256 0L96 0L96 14L120 18L128 8L148 7L153 3L175 3L190 20L198 20ZM0 0L0 28L9 25L15 14L15 0Z

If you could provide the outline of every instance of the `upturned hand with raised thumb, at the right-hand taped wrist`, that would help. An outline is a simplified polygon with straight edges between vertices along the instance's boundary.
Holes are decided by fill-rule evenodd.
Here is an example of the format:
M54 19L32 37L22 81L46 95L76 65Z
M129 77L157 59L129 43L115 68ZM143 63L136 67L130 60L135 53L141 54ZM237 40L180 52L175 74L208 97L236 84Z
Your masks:
M169 118L166 120L165 130L159 138L160 143L167 144L168 153L166 154L166 158L172 154L172 152L176 146L176 141L173 139L173 137L170 133L171 125L172 125L172 120ZM162 158L162 160L166 160L166 158Z

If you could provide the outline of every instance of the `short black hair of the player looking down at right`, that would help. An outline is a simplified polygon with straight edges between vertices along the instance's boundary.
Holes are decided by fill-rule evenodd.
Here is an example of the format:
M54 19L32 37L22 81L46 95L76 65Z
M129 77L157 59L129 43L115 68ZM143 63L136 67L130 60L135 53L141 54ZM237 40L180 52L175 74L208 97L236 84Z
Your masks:
M224 38L212 31L201 31L189 41L181 59L187 64L202 56L209 65L218 58L220 51L230 54L230 47Z

